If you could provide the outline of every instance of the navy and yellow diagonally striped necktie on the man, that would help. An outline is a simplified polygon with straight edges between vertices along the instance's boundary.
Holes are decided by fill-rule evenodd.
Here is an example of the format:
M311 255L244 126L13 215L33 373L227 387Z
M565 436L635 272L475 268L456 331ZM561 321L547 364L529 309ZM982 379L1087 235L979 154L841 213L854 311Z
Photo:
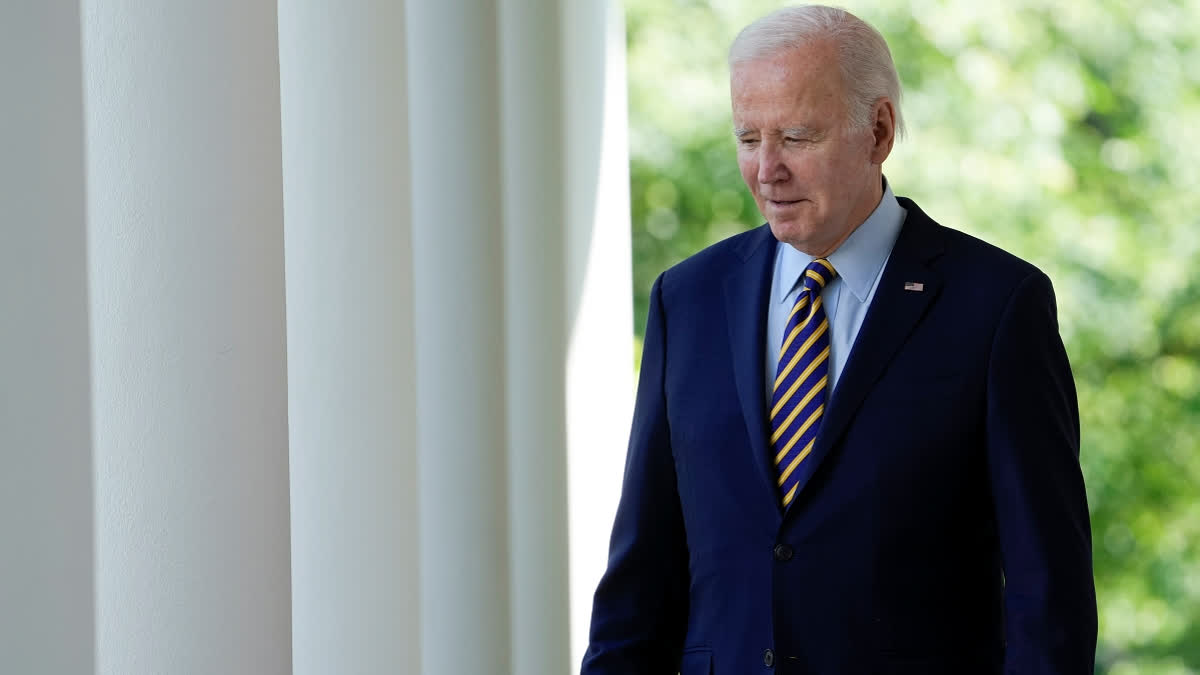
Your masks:
M779 471L779 494L784 508L796 497L802 478L811 470L805 458L824 413L829 384L829 319L821 303L821 289L838 273L824 258L804 268L804 289L792 305L779 350L774 393L770 396L770 446Z

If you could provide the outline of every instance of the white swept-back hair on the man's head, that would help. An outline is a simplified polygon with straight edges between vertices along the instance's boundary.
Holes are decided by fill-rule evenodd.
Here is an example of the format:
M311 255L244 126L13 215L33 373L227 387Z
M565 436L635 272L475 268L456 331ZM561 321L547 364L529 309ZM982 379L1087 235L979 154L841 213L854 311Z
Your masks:
M895 109L896 135L904 137L900 114L900 76L892 52L880 31L863 19L836 7L800 5L784 7L742 29L730 46L730 68L815 40L833 40L846 90L846 107L854 129L870 129L871 112L887 97Z

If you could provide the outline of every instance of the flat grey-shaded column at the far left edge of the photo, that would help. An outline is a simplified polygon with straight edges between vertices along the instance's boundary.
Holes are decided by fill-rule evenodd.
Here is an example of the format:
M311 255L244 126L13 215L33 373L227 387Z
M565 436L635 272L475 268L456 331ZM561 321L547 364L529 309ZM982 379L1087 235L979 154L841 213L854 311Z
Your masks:
M0 4L0 673L91 673L77 4Z

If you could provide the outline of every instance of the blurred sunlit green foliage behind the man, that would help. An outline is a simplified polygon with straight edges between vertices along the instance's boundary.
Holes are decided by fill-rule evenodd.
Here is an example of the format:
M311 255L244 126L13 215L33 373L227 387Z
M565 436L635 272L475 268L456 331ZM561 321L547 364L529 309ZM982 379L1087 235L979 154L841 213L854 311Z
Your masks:
M725 50L778 6L629 0L634 282L761 217ZM1200 4L884 0L896 193L1055 281L1082 416L1098 673L1200 673Z

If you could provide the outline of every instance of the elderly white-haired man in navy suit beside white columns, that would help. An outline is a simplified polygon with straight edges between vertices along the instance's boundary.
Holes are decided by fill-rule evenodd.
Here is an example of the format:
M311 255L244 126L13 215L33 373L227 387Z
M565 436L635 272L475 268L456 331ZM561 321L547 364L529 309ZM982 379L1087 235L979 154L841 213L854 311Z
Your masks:
M781 10L730 67L767 225L650 292L584 675L1091 674L1050 280L893 196L899 79L858 18Z

